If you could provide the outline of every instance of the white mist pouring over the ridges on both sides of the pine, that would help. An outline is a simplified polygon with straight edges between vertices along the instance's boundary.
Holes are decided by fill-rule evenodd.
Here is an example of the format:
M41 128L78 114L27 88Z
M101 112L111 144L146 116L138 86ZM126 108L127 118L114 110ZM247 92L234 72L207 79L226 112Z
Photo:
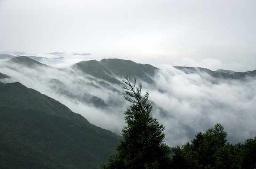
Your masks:
M76 61L90 56L86 57L79 56ZM4 82L18 81L60 101L90 123L120 135L126 125L123 112L129 107L121 85L75 69L67 63L71 57L59 62L53 58L40 61L51 67L33 68L0 60L0 72L12 77ZM255 78L217 79L205 72L184 73L171 65L159 68L152 77L154 84L141 79L137 79L137 83L143 86L142 94L145 91L150 94L152 115L165 126L168 146L185 144L197 132L204 132L216 123L224 126L232 143L256 136ZM94 96L107 106L88 103Z

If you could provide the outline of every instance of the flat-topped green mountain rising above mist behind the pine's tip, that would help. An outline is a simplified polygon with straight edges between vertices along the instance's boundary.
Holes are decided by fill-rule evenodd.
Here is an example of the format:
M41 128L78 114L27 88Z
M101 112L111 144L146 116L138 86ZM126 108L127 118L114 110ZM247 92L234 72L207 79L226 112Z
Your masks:
M145 82L153 83L152 77L158 70L158 68L149 64L138 64L134 61L122 59L80 61L73 65L73 68L115 84L121 84L118 78L123 78L124 76L136 77Z

